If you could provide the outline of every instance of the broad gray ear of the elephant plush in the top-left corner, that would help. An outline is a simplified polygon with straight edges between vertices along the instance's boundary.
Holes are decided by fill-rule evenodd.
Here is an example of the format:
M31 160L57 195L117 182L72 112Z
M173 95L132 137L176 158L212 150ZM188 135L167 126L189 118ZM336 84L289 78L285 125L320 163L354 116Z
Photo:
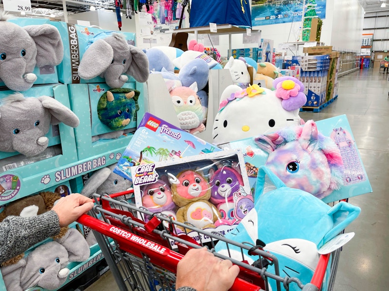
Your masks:
M24 29L36 45L36 65L59 65L64 57L64 46L58 30L50 24L28 25Z

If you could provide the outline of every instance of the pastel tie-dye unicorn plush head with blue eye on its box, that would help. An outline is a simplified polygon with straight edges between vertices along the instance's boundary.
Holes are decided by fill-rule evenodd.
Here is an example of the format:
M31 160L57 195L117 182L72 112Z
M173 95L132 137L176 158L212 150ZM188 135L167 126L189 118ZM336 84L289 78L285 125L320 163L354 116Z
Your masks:
M255 138L269 156L265 166L286 186L322 199L343 185L343 160L335 142L313 120Z

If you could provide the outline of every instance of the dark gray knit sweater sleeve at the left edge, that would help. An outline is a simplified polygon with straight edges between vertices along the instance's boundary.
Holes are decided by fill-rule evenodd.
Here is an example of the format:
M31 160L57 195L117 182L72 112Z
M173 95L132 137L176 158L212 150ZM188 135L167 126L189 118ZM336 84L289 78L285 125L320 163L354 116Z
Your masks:
M0 223L0 263L11 259L35 243L59 234L59 219L50 210L33 217L8 216Z

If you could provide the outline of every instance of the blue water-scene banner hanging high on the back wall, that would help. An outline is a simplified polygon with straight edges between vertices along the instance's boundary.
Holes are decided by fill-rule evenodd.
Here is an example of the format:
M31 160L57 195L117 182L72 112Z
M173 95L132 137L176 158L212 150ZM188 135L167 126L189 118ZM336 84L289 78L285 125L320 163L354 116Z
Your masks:
M301 21L303 0L252 0L251 4L252 26ZM326 0L305 0L307 5L319 18L325 18Z

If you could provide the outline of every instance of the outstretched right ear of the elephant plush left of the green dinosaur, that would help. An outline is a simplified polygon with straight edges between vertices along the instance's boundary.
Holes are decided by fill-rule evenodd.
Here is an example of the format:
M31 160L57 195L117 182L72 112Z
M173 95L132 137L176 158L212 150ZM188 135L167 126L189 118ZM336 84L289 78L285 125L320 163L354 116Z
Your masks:
M65 123L72 128L77 127L80 124L80 120L77 115L74 114L68 107L58 102L52 97L41 96L38 97L44 108L47 108L52 114L51 124L58 124L60 122Z

